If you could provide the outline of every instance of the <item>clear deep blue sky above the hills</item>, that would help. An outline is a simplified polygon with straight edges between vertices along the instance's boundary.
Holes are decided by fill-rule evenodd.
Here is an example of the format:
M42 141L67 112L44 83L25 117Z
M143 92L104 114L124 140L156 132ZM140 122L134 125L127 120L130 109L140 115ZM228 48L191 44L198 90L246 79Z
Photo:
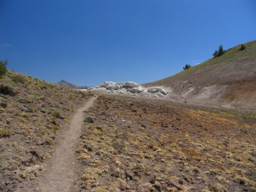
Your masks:
M0 59L52 83L147 83L256 40L254 0L0 0Z

